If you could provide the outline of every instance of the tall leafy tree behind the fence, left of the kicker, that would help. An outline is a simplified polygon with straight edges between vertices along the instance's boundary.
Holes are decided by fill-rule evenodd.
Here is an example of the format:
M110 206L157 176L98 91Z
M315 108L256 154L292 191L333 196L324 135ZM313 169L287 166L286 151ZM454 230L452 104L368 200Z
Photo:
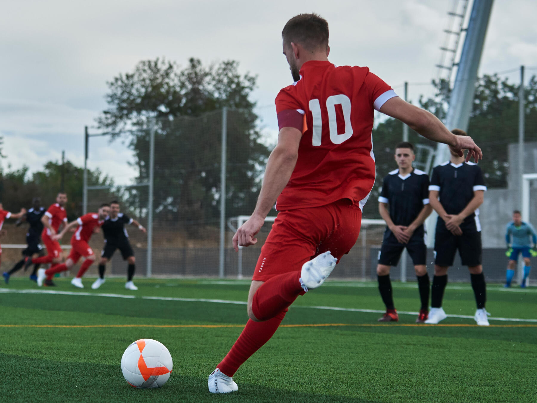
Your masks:
M149 174L149 119L157 122L155 135L156 220L182 222L190 235L200 235L200 224L219 216L221 112L227 106L227 214L243 214L255 205L259 170L269 149L260 143L255 103L249 97L256 77L240 75L236 61L188 66L156 59L141 61L133 73L108 82L108 109L98 118L101 128L127 136L134 151L139 181ZM144 205L139 190L130 191Z

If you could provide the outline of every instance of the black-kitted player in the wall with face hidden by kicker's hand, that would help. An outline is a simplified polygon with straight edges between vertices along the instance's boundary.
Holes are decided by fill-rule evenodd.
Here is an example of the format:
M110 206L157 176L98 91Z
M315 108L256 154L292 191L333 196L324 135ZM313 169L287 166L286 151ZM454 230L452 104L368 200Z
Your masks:
M459 138L466 132L454 129ZM464 157L451 153L451 159L434 167L429 186L429 201L438 213L434 235L434 278L431 290L431 312L425 323L438 323L447 315L442 309L442 298L447 284L447 269L453 265L459 250L462 265L468 266L471 286L477 304L474 319L477 325L489 326L485 302L487 287L481 245L479 206L487 186L483 182L481 168Z

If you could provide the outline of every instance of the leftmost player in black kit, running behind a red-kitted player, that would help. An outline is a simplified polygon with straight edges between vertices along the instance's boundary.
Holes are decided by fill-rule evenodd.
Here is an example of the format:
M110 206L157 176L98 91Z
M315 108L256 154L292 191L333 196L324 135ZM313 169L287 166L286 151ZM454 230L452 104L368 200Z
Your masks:
M39 197L34 197L32 200L32 208L30 208L23 217L17 221L17 226L23 224L26 221L30 224L28 232L26 233L26 249L23 250L23 260L17 262L13 268L4 273L4 280L6 283L9 281L9 276L14 272L20 270L24 266L25 257L32 257L33 255L43 255L43 248L41 247L41 232L43 231L43 223L41 218L45 214L45 207L41 206L41 199ZM37 270L39 269L39 264L35 264L30 279L37 281Z

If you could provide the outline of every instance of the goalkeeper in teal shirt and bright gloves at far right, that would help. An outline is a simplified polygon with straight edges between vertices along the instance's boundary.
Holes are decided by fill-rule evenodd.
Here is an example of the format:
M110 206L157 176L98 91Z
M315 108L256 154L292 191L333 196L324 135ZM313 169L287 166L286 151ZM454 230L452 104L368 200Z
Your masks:
M523 222L520 211L513 211L513 221L507 224L505 233L505 242L507 243L506 255L509 256L509 264L507 264L507 279L505 287L511 286L511 281L514 277L514 268L518 261L518 255L522 254L524 258L524 279L520 283L521 287L526 286L526 279L529 276L531 266L529 258L537 256L537 251L530 250L531 243L533 248L537 247L537 233L529 222Z

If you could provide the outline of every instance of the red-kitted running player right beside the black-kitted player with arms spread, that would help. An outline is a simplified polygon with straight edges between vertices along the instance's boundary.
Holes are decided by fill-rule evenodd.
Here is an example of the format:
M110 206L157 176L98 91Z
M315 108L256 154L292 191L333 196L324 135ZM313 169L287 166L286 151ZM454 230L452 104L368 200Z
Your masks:
M84 214L82 217L78 217L75 221L70 222L62 232L54 235L53 239L55 241L61 239L63 235L71 228L77 227L75 233L71 236L71 253L67 257L67 260L63 264L56 265L51 267L48 270L39 269L37 275L37 284L42 285L43 280L52 277L56 273L69 270L73 267L81 257L84 257L84 262L82 263L80 269L75 278L71 280L71 284L78 288L84 288L82 284L82 276L95 261L95 253L93 249L90 248L88 242L90 241L91 235L93 233L99 232L99 227L103 225L103 222L108 214L110 213L110 204L103 203L99 207L97 213L88 213Z

